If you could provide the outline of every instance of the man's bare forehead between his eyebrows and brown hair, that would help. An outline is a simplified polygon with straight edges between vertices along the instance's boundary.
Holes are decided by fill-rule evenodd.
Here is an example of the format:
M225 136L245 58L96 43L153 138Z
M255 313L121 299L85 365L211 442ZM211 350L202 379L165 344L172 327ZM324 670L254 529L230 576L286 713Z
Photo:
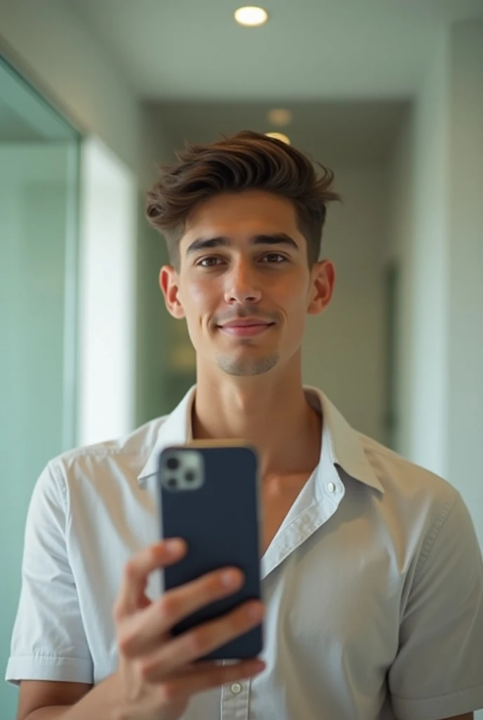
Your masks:
M198 235L243 238L261 232L284 232L303 241L290 199L263 190L216 195L193 208L181 242L190 242Z

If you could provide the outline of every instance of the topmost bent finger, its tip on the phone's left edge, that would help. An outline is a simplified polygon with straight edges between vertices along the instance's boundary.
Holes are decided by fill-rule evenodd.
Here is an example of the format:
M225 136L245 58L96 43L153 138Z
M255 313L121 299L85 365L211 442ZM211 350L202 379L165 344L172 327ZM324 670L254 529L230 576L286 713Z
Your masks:
M173 538L144 548L124 565L121 590L114 606L120 620L142 606L142 597L151 572L178 562L186 552L185 541Z

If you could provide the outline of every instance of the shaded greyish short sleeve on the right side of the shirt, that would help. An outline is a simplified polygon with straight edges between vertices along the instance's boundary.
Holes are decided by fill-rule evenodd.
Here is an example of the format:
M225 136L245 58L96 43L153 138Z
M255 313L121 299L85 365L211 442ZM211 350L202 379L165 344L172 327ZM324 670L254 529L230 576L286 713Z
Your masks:
M388 681L400 720L483 708L482 554L459 494L423 545Z

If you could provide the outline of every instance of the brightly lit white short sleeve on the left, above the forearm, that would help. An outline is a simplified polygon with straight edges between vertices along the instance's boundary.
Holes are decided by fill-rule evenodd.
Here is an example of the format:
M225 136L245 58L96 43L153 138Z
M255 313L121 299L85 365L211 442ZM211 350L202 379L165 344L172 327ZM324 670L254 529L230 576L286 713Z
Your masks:
M47 465L27 513L22 590L6 680L93 683L93 663L65 542L63 478Z

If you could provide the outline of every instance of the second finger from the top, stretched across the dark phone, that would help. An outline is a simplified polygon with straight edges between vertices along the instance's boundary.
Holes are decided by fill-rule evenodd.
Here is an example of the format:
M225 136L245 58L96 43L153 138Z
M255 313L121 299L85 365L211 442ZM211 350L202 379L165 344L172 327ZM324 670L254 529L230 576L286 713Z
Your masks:
M129 618L118 640L119 649L126 657L149 654L159 647L160 639L180 620L214 600L231 595L242 587L243 581L240 570L226 568L168 590L147 610Z

